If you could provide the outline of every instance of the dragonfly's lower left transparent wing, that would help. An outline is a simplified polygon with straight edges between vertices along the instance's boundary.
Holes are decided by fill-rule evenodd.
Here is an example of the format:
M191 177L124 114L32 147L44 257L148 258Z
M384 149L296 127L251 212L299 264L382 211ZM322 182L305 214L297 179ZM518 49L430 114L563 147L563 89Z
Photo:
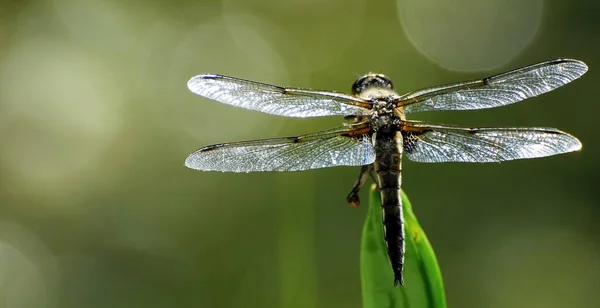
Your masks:
M368 165L375 150L366 135L351 129L223 143L192 153L185 165L192 169L223 172L300 171L335 166Z

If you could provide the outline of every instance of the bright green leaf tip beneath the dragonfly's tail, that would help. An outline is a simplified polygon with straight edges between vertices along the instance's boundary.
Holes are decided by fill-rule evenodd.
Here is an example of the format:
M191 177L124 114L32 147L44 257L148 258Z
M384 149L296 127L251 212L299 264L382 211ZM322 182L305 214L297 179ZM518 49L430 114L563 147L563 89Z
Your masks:
M360 273L364 308L445 308L442 275L425 232L402 192L406 227L404 287L394 287L394 274L387 256L381 222L381 199L373 185L363 227Z

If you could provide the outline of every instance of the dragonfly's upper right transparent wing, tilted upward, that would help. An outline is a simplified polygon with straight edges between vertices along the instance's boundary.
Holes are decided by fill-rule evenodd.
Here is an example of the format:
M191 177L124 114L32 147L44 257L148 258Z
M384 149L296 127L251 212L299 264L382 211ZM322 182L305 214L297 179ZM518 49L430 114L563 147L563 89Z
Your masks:
M401 96L405 113L500 107L538 96L585 74L585 63L555 59L482 80L423 89Z

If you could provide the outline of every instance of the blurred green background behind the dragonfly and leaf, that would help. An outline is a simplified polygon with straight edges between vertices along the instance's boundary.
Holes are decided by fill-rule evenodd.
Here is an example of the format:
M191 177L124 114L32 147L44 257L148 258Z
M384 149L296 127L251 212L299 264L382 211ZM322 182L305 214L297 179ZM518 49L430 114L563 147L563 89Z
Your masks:
M233 108L187 80L349 92L375 71L402 93L569 57L590 72L552 93L413 118L557 127L583 151L406 161L403 188L451 307L596 307L599 14L591 0L3 0L0 306L360 307L366 206L345 203L358 168L183 166L204 145L341 119Z

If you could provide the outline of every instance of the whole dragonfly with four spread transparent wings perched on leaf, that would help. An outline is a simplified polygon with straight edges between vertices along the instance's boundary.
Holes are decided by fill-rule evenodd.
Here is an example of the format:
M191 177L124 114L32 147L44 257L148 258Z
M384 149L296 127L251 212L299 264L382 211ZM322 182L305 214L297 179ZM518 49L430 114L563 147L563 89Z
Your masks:
M351 94L288 88L217 74L192 77L195 94L267 114L311 118L342 116L339 128L316 133L220 143L193 152L189 168L222 172L302 171L361 166L346 200L372 177L381 194L382 223L394 286L404 285L405 230L400 197L403 154L421 163L491 163L578 151L574 136L546 127L461 127L407 120L424 111L475 110L506 106L552 91L587 71L585 63L554 59L491 77L425 88L399 95L391 80L369 73Z

